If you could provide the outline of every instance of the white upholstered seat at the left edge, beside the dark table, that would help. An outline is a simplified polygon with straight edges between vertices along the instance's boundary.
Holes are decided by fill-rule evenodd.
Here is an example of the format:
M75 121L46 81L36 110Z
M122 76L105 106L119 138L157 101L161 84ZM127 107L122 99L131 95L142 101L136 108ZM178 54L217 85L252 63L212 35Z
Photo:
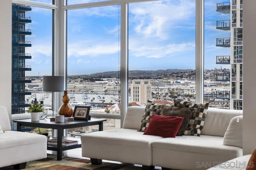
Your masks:
M44 135L11 131L6 107L0 106L0 167L14 165L24 169L26 162L47 157L47 137Z

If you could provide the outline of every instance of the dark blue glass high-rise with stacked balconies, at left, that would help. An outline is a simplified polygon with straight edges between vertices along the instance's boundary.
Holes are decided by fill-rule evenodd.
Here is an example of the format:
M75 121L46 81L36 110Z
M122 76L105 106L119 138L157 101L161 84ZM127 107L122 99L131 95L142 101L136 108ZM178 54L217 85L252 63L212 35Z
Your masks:
M31 95L25 89L25 83L31 83L25 78L25 71L31 71L25 64L26 59L31 59L25 52L26 47L31 47L31 42L25 40L26 35L31 35L31 30L25 29L25 24L31 23L30 17L25 15L27 11L31 11L30 6L12 4L12 114L25 113L28 107L25 95Z

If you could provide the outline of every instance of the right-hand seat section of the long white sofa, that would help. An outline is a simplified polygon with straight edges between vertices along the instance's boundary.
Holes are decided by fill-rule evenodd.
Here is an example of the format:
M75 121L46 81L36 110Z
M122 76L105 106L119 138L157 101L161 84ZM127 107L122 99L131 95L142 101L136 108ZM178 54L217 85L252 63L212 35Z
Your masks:
M201 135L176 136L152 142L153 165L173 169L205 170L212 165L242 156L243 149L223 145L223 137ZM163 156L164 155L164 156ZM171 156L175 155L175 156ZM171 158L170 158L171 156Z

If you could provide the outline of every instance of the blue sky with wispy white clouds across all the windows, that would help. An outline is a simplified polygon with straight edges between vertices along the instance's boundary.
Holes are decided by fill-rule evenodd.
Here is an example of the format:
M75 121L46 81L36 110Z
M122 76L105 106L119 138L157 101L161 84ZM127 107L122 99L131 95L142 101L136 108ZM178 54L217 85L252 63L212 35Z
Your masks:
M50 3L51 0L37 0ZM68 0L68 4L98 0ZM102 0L100 0L102 1ZM216 3L205 0L204 68L229 68L216 64L216 56L230 55L230 48L216 47L216 38L230 37L230 31L216 29L217 20L230 14L216 12ZM152 8L153 6L153 8ZM26 76L51 75L52 10L32 7L26 12L32 47L26 59L32 71ZM67 12L68 75L120 70L120 5ZM158 0L128 5L129 70L195 69L195 0Z

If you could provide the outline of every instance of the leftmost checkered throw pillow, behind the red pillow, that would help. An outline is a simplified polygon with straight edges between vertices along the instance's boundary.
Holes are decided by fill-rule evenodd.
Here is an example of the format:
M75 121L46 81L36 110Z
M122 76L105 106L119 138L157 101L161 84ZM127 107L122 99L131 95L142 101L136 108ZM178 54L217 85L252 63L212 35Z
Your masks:
M142 120L140 122L140 127L138 131L146 131L150 119L153 114L159 115L160 114L160 108L163 106L163 104L155 104L152 101L148 100L146 108L145 108L145 113L142 116Z

